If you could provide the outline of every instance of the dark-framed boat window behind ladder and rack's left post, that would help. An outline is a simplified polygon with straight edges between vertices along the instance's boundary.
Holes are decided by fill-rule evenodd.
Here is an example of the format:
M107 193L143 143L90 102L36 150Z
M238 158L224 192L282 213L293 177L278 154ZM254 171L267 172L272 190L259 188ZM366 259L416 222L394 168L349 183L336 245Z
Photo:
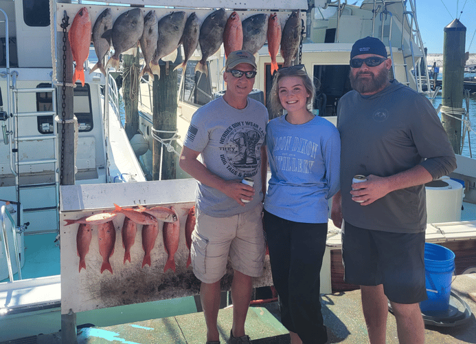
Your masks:
M49 83L41 83L38 87L52 87ZM88 84L76 84L74 94L74 116L78 118L79 132L93 130L93 111L91 94ZM60 107L57 107L58 109ZM52 92L36 94L36 111L52 111ZM58 110L59 111L59 110ZM38 116L38 131L43 134L53 133L53 116Z

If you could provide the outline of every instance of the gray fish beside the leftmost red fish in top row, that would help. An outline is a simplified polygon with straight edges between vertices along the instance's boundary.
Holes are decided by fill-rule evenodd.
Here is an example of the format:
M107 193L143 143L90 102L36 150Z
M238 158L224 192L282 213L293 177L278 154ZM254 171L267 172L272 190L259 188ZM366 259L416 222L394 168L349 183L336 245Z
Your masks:
M102 74L106 75L104 69L104 56L111 49L111 31L113 28L113 14L111 8L106 8L96 19L93 26L93 45L96 56L98 56L98 63L94 65L89 71L89 74L99 69Z

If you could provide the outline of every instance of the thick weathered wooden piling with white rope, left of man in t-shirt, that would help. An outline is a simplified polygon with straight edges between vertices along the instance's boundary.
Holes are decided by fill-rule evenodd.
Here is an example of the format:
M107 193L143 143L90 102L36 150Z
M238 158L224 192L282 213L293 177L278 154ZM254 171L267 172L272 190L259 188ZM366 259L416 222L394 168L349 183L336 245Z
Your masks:
M152 84L152 126L159 131L177 131L177 71L176 64L161 63L160 79L154 76ZM160 138L167 139L174 133L155 132ZM170 142L177 150L175 140ZM169 152L158 140L152 146L152 180L170 180L176 178L177 166L174 151ZM162 156L161 156L162 155ZM162 158L162 175L160 166Z

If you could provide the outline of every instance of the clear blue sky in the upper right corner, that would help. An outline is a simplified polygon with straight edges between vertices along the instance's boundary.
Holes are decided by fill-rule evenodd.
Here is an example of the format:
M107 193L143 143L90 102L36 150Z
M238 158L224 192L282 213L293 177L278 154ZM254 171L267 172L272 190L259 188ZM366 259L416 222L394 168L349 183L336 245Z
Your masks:
M348 3L354 1L348 0ZM428 54L442 54L444 27L455 18L466 26L465 51L476 54L476 0L416 0L416 18Z

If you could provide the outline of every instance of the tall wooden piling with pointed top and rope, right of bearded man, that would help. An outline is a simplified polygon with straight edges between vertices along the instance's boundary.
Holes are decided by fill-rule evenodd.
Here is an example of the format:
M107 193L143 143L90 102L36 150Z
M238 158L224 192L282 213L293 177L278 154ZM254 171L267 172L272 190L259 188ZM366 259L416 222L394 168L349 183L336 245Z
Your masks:
M464 45L466 27L455 19L444 28L443 42L443 88L442 105L461 108L464 88ZM452 114L457 118L461 115ZM461 153L461 120L442 113L442 124L453 146L453 151Z

